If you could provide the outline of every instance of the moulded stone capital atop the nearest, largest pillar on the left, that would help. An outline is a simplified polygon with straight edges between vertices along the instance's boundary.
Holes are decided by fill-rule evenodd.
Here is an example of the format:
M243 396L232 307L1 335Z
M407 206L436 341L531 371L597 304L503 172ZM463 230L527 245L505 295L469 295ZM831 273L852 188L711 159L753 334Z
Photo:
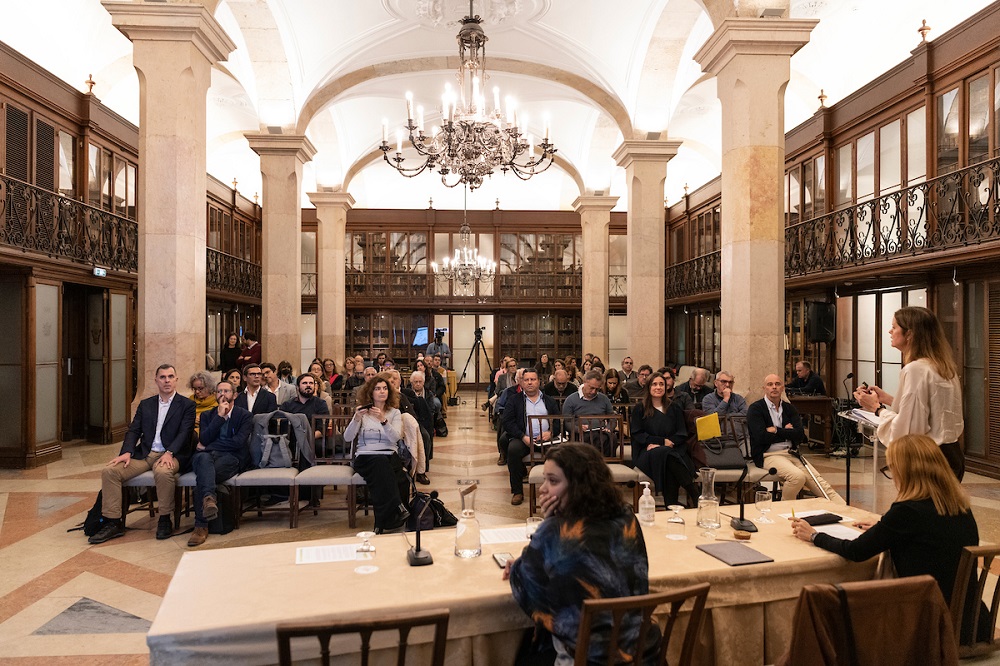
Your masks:
M236 43L200 4L102 2L111 24L134 42L190 42L209 62L229 58Z

